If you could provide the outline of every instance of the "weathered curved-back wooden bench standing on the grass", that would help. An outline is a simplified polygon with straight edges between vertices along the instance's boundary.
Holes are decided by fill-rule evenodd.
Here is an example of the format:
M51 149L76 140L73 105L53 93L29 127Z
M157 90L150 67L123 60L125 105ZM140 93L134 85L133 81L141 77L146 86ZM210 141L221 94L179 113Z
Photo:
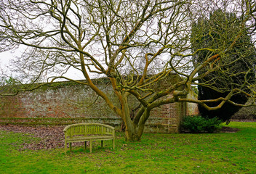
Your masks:
M92 141L101 141L103 147L104 140L113 141L113 149L115 149L115 128L110 125L99 123L78 123L68 125L64 128L65 134L65 154L67 152L67 144L71 151L73 142L84 142L84 149L87 148L89 141L89 152L92 152Z

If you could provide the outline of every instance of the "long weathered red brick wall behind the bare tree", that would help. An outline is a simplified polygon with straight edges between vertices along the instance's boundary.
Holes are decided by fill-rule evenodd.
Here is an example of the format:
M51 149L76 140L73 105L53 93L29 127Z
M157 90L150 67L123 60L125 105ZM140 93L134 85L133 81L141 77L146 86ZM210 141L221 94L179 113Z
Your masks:
M110 86L100 85L113 103L119 105ZM131 109L138 106L135 98L129 98ZM180 116L183 115L182 105L178 103L165 104L151 111L151 117L146 123L148 132L177 132ZM135 111L136 112L136 111ZM120 125L121 119L97 98L90 88L71 85L57 88L44 88L26 91L17 96L1 97L0 122L3 118L58 118L80 119L79 122L93 121Z

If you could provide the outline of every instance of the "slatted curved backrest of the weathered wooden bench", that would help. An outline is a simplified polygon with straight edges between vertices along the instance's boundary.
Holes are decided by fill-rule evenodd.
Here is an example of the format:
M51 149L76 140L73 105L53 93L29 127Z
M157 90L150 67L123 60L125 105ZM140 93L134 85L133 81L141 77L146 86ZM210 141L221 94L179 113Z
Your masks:
M103 125L100 123L77 123L66 126L63 131L65 133L65 137L89 135L115 136L115 128L110 125Z

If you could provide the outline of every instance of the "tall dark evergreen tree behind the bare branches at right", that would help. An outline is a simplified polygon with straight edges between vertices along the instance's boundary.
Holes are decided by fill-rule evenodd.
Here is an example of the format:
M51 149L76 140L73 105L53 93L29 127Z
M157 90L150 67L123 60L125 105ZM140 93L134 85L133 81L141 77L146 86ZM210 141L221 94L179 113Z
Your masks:
M255 48L245 25L235 14L218 9L210 14L209 19L199 19L193 24L191 43L196 51L194 65L203 63L212 55L220 55L199 72L200 100L225 98L234 88L249 92L248 84L255 80ZM237 92L230 100L245 104L248 99L246 94ZM208 103L208 106L218 104L220 101ZM225 122L240 108L225 102L223 107L212 111L199 106L199 112L203 117L218 117Z

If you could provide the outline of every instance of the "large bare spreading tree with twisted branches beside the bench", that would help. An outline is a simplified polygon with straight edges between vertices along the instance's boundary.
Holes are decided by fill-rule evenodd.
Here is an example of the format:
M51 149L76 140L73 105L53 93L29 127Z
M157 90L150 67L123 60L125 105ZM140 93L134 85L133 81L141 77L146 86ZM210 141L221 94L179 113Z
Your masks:
M190 43L193 20L209 15L217 6L223 7L218 1L205 2L211 4L208 9L204 2L193 0L6 0L0 16L1 43L4 43L0 49L27 47L13 64L17 66L13 70L19 72L25 83L47 77L45 83L65 79L92 88L124 120L127 140L137 141L155 107L190 101L217 109L225 102L232 103L229 99L234 93L244 93L243 86L232 89L225 98L211 100L221 101L217 107L208 107L208 100L183 97L201 78L199 71L209 67L212 72L223 66L218 62L228 53L225 50L233 49L241 35L238 31L230 45L216 49L215 54L207 55L204 62L194 67L192 57L199 50L193 50ZM243 19L241 30L247 28L255 37L255 1L230 3L236 5L226 6L227 9L235 10ZM71 68L82 72L86 83L66 78L65 72ZM172 73L180 75L179 82L169 83L161 91L152 88L153 83ZM97 77L111 81L120 102L118 106L97 88L92 80ZM253 84L247 85L251 85L251 91L254 89ZM173 97L165 97L169 94ZM133 119L129 96L135 96L141 104Z

